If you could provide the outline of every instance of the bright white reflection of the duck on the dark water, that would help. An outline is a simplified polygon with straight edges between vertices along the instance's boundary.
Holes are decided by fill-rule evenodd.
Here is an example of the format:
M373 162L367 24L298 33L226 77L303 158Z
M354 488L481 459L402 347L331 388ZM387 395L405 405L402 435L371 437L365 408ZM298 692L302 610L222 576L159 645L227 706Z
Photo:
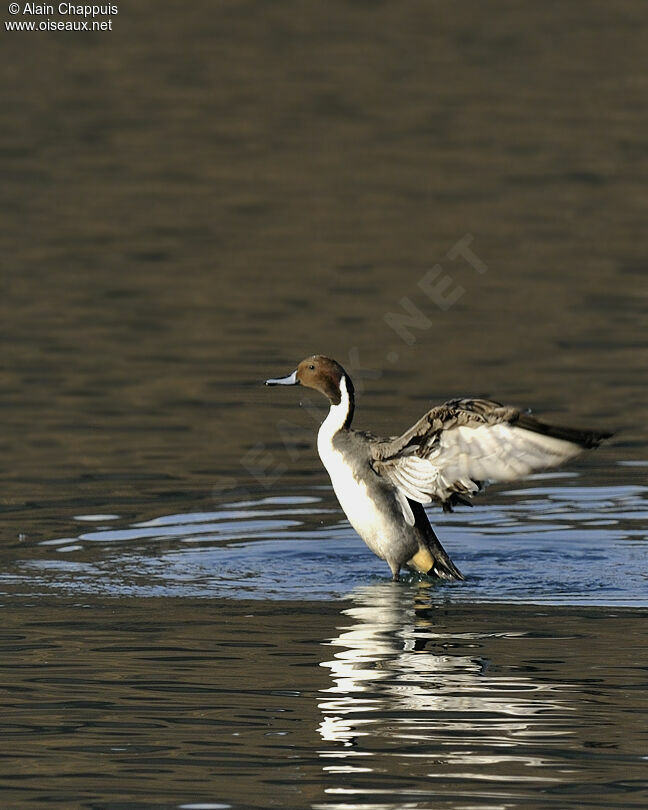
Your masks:
M319 702L319 734L327 744L320 756L336 781L327 793L341 803L316 807L343 808L350 795L390 792L375 781L385 754L397 758L404 776L561 781L555 767L550 775L538 769L553 764L548 738L555 744L554 738L569 734L569 709L556 695L564 684L490 674L482 642L525 634L439 632L434 615L443 609L430 606L430 591L426 583L416 591L383 583L351 594L353 607L343 613L354 623L330 642L339 651L322 664L333 683ZM375 767L376 755L383 767ZM498 773L498 764L506 764L505 773ZM370 783L339 783L362 774L373 774Z

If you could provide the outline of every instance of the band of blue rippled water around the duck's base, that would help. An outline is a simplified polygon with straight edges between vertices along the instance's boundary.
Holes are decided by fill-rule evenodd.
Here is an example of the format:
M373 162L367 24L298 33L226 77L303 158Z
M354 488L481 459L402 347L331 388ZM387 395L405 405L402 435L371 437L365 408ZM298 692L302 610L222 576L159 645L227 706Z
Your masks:
M430 593L439 598L648 606L648 486L579 486L575 473L541 473L473 510L430 514L467 577L436 583ZM390 576L325 491L134 524L118 515L74 522L74 536L14 544L0 587L15 595L339 600Z

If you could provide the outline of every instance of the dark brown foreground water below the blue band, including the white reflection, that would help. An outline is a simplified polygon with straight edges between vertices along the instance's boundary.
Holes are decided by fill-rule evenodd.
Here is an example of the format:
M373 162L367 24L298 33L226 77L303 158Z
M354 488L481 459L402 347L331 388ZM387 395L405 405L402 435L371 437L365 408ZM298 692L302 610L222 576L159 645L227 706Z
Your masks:
M3 604L5 806L642 807L645 611Z

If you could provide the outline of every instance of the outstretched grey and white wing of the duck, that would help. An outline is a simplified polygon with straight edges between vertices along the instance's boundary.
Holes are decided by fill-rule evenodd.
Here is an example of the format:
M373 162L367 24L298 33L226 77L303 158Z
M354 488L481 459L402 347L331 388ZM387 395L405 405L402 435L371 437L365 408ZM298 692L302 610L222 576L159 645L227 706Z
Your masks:
M407 498L451 511L487 482L554 467L610 435L548 425L486 399L453 399L402 436L372 442L372 466Z

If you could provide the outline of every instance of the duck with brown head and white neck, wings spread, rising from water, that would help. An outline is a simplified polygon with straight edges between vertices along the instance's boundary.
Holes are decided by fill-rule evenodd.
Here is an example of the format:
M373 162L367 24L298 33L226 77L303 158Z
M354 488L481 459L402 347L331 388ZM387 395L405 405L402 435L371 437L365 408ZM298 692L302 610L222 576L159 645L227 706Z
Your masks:
M436 536L424 506L446 512L488 483L514 481L597 447L612 434L550 425L528 411L487 399L451 399L409 430L383 438L351 427L354 386L344 368L316 354L265 385L302 385L323 394L329 412L317 450L349 523L391 571L464 580Z

